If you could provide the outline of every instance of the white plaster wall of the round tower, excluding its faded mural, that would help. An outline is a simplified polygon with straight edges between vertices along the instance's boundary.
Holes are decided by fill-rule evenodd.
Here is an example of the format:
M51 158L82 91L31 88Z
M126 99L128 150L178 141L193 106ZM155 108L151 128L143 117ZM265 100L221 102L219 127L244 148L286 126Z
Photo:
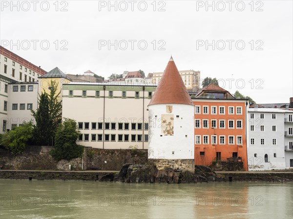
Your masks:
M161 115L168 114L166 106L173 106L174 135L161 136ZM159 104L148 107L148 158L194 159L194 106L182 104ZM157 118L155 118L157 115ZM176 118L179 115L179 118ZM186 137L187 135L187 137ZM174 151L174 154L172 154Z

